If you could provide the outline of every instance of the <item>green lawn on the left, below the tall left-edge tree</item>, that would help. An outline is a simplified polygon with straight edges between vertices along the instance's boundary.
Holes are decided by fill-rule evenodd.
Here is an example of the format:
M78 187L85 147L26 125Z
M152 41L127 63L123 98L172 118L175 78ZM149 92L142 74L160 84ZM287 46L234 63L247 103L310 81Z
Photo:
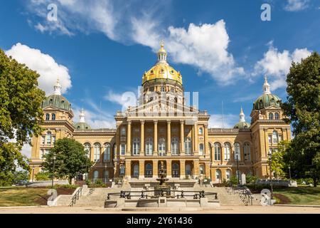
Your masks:
M47 196L48 188L1 187L0 207L35 206L41 204L40 196Z

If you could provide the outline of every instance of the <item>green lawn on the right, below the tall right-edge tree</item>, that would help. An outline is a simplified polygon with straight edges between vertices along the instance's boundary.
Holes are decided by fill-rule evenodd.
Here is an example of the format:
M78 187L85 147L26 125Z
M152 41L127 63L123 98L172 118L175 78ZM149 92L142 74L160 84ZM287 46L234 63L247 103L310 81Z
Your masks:
M287 187L275 189L274 193L276 199L282 199L279 204L320 205L320 187Z

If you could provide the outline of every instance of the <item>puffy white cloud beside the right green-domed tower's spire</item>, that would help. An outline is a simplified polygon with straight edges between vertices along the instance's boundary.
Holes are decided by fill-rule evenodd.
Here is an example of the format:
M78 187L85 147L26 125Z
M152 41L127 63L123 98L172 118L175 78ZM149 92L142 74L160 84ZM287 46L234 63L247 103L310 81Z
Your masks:
M270 85L272 90L284 88L287 86L286 76L289 73L292 61L301 62L302 58L306 58L311 54L306 48L296 48L292 53L287 50L278 51L270 45L269 50L264 54L264 57L255 64L255 73L253 75L272 76Z

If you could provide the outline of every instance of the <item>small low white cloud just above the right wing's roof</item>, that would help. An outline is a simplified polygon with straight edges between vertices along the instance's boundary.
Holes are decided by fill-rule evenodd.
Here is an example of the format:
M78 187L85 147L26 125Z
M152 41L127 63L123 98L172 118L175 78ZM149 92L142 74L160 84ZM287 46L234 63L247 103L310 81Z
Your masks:
M213 114L210 115L209 128L233 128L233 126L238 123L238 115L233 114Z

